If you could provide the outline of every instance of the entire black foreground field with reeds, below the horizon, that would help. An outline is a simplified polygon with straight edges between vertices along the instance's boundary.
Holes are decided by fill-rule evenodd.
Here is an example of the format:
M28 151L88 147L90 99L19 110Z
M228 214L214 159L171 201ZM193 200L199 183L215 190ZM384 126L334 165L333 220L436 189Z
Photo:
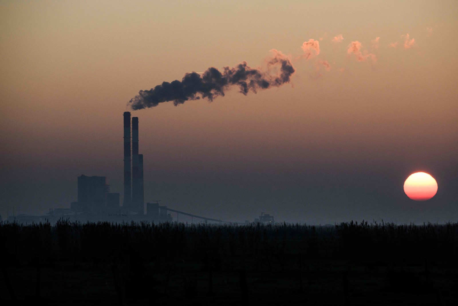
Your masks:
M458 223L0 224L2 305L458 305Z

